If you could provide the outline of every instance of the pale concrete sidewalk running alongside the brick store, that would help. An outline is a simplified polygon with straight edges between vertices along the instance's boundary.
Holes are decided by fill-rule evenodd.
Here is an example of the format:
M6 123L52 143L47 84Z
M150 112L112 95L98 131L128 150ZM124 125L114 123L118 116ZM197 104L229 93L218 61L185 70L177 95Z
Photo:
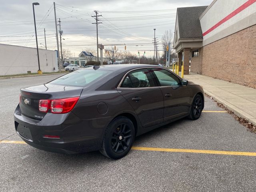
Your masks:
M214 100L256 125L256 89L200 74L184 75L184 78L203 86L204 92Z

